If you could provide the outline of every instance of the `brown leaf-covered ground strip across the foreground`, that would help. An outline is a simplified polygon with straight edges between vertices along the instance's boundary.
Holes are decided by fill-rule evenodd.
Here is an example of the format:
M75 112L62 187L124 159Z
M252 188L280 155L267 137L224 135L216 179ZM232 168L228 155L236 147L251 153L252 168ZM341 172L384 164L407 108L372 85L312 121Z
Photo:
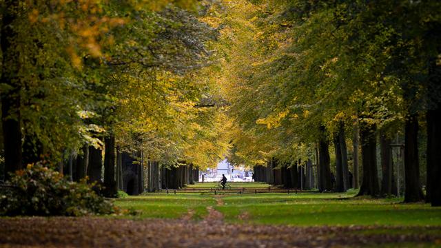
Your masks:
M188 220L2 218L0 247L360 247L402 242L440 245L441 227L428 234L361 234L373 227L227 225ZM390 228L390 227L389 227ZM438 234L437 234L438 233ZM435 236L434 236L435 234Z

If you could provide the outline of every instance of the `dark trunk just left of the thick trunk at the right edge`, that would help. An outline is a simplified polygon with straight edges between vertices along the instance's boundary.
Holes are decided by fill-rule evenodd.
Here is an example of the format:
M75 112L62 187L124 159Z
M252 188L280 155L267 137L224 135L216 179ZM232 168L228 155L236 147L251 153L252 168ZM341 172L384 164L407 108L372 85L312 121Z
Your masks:
M404 202L414 203L422 200L420 185L420 165L418 161L418 118L411 114L404 131Z

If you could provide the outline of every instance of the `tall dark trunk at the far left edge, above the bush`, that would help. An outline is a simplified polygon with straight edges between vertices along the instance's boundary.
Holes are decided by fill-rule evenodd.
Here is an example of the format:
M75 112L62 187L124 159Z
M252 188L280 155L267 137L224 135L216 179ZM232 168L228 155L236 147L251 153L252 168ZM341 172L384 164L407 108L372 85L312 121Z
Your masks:
M21 151L21 82L19 75L19 51L13 44L17 40L17 30L12 23L17 19L20 1L5 0L1 23L1 83L8 85L11 90L1 94L1 124L3 128L3 149L5 154L5 178L10 178L10 173L22 169Z

